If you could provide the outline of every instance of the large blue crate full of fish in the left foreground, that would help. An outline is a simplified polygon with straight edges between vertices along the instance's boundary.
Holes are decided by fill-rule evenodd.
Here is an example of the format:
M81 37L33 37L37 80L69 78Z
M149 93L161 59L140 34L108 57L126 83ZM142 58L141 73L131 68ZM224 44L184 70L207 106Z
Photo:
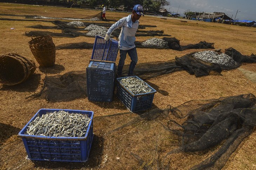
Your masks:
M40 109L22 128L28 158L86 162L93 141L93 111Z

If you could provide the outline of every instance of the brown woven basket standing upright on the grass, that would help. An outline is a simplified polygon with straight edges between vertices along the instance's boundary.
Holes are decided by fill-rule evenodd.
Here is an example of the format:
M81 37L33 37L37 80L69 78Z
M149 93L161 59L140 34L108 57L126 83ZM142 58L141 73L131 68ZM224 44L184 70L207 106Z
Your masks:
M55 64L55 44L51 36L32 36L28 42L30 50L36 61L42 67L51 67Z

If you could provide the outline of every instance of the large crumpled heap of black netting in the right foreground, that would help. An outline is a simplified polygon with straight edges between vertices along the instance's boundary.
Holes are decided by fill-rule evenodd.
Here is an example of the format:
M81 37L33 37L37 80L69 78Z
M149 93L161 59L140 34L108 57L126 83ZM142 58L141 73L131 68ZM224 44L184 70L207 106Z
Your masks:
M195 106L193 103L195 101L178 106L171 110L171 114L183 118L180 108L192 109L191 106ZM255 104L256 97L252 94L221 97L183 113L187 119L181 124L170 120L163 126L180 137L181 146L168 152L165 158L174 153L206 150L227 139L215 154L191 168L221 169L241 141L256 126Z

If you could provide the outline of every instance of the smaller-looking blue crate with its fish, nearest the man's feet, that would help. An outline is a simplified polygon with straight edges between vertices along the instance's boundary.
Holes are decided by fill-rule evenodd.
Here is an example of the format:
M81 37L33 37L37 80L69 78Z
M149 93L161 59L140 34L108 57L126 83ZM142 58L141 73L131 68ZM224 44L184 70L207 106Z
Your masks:
M156 90L137 76L117 78L116 95L130 112L151 108Z

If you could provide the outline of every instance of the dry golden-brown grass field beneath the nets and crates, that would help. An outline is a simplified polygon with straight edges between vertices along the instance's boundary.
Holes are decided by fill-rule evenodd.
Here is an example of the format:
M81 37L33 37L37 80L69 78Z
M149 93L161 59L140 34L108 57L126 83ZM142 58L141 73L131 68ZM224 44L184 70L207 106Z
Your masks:
M8 3L0 3L0 9L0 18L9 19L25 19L25 17L8 14L88 18L99 13L99 10ZM128 13L107 12L106 17L111 20L119 20L127 15ZM34 59L28 46L31 37L24 34L25 31L36 29L25 27L37 24L54 26L50 22L40 21L0 20L0 23L0 54L13 52L30 59ZM196 44L205 40L206 42L214 42L215 48L222 49L222 52L228 47L233 47L243 55L256 53L256 28L199 21L181 22L177 19L164 20L153 16L141 17L140 24L156 25L157 27L146 28L146 30L163 30L164 34L179 39L181 45ZM44 31L61 32L61 30ZM148 38L152 37L137 37L136 40L143 41ZM93 37L82 36L76 38L53 37L55 45L76 42L93 43L94 39ZM196 51L204 50L175 51L138 48L138 63L167 61L176 56L181 57ZM157 164L161 163L164 155L177 147L175 135L165 131L157 121L146 121L140 119L139 114L127 113L126 107L116 97L111 103L90 102L88 98L55 103L39 98L26 99L27 96L41 90L46 75L84 71L89 64L91 54L92 49L57 50L55 64L61 65L65 69L39 68L39 64L36 63L38 68L36 68L35 74L26 82L12 87L0 85L0 169L139 169L141 162L132 153L139 155L143 161L150 164L151 168L157 169ZM130 60L127 59L126 64L129 62ZM208 76L195 77L186 71L178 71L149 79L150 83L167 92L167 94L155 94L154 107L160 109L166 108L167 105L175 107L194 99L205 100L248 93L256 95L256 82L249 80L242 72L245 70L256 73L256 63L242 64L240 68L242 69L223 71L221 75L210 73ZM88 162L32 162L26 159L26 150L17 134L41 108L94 111L94 139ZM116 113L126 114L104 117ZM140 121L113 133L107 133L135 119ZM256 169L255 141L256 131L243 140L223 169ZM158 145L157 152L155 150L156 144ZM218 148L220 146L202 152L170 155L167 157L170 163L169 169L189 169L215 153Z

